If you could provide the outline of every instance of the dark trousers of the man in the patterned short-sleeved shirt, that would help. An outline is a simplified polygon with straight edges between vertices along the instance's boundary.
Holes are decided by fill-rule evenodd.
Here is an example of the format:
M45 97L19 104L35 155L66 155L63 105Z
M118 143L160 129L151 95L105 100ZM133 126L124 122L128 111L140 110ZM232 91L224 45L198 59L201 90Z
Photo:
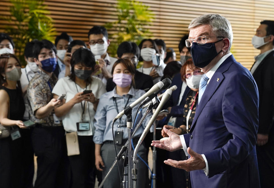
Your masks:
M33 151L37 156L34 187L69 187L69 161L63 127L36 126L32 132Z

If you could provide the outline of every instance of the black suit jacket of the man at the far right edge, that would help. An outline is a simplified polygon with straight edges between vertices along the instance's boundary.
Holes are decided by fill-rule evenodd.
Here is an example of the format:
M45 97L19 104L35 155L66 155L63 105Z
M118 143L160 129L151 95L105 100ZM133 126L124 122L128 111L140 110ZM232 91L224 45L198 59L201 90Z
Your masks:
M258 133L269 134L274 117L274 51L262 60L253 77L259 91Z

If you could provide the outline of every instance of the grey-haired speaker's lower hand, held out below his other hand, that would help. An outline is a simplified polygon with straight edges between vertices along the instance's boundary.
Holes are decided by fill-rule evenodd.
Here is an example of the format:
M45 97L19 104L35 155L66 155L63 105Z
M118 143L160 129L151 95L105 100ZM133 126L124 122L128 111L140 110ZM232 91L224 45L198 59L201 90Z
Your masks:
M196 153L195 151L190 149L190 147L187 148L187 153L189 153L190 158L185 161L175 161L172 159L167 159L166 161L164 161L164 163L175 168L184 169L187 172L205 168L205 160L203 159L202 155Z

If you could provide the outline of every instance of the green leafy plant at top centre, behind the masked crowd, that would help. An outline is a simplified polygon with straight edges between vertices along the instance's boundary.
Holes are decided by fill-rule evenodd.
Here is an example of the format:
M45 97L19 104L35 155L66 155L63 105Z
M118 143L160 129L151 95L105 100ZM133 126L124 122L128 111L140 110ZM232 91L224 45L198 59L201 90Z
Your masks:
M139 44L143 38L152 36L146 26L151 25L154 14L148 8L138 1L117 0L117 21L105 24L108 31L115 31L114 34L109 34L109 38L114 39L108 47L112 56L117 55L121 42L131 41Z

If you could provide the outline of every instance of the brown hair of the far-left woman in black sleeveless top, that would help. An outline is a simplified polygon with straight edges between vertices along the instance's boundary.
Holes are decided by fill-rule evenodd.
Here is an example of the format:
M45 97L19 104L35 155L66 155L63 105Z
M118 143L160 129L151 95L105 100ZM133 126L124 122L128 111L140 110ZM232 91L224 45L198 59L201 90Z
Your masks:
M9 61L9 58L13 57L14 59L16 59L16 61L19 63L20 67L21 67L21 63L18 59L18 57L16 57L16 55L11 54L11 53L4 53L0 55L0 82L1 82L1 86L5 86L7 85L7 81L5 80L5 78L2 76L2 73L5 73L5 70L7 68L7 64ZM21 83L20 80L17 81L17 86L18 89L20 90L20 92L22 92L22 88L21 88Z

